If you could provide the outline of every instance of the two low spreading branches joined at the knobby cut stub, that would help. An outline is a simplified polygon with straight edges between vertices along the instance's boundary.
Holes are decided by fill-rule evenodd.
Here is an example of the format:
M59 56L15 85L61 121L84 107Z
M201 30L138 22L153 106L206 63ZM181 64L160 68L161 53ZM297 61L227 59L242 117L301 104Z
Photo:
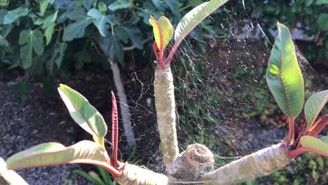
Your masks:
M195 147L196 149L193 150ZM198 149L199 147L202 148ZM212 154L210 151L207 151L207 148L200 144L193 144L188 148L192 150L188 151L187 149L179 155L179 158L176 158L177 161L174 160L173 163L170 164L170 169L173 169L174 173L178 174L179 177L184 177L183 179L172 177L172 174L170 174L170 179L168 179L164 174L158 174L137 167L136 165L126 164L123 174L120 177L116 177L115 180L122 185L237 184L271 174L272 172L280 170L285 165L288 165L292 160L292 158L289 158L287 155L287 148L285 146L275 144L240 158L239 160L235 160L217 170L206 172L206 170L208 170L206 166L212 163ZM201 175L195 176L190 174L190 172ZM175 176L175 174L173 174L173 176ZM190 177L190 179L188 177ZM200 178L194 179L194 177Z

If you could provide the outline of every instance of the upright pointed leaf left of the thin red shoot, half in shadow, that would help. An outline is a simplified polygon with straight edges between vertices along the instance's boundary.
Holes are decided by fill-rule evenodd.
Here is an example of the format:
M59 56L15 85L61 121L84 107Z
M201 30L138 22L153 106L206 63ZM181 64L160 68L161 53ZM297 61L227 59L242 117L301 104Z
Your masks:
M84 130L93 135L95 142L104 146L104 136L107 133L107 125L102 115L93 107L86 97L67 85L60 84L58 88L60 97L66 104L71 118Z

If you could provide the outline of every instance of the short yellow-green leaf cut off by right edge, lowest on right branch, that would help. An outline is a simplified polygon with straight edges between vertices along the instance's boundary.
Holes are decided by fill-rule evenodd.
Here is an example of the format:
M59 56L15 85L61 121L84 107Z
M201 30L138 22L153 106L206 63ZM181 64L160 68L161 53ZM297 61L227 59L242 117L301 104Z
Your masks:
M310 149L315 149L316 151L320 151L328 156L328 137L324 136L320 139L317 139L312 136L303 136L301 137L302 147L307 147Z

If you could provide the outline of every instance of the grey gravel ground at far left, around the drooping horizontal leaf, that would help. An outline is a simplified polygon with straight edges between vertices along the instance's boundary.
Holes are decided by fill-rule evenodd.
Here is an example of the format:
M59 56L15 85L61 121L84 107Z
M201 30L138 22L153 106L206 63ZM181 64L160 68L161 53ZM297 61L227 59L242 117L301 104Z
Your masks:
M57 114L57 101L49 101L34 85L22 106L15 100L12 89L16 81L0 81L0 156L8 157L43 142L60 142L65 146L77 142L76 128L67 116ZM67 126L71 124L71 126ZM80 165L57 165L18 170L28 184L63 184L67 175ZM73 175L72 184L90 184L86 179Z

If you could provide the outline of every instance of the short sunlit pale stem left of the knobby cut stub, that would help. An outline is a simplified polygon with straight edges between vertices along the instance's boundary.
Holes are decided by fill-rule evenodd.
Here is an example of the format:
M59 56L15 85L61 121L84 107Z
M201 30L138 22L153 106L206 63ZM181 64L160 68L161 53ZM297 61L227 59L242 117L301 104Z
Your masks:
M168 177L147 170L137 165L125 164L124 171L120 177L114 179L121 185L166 185Z

